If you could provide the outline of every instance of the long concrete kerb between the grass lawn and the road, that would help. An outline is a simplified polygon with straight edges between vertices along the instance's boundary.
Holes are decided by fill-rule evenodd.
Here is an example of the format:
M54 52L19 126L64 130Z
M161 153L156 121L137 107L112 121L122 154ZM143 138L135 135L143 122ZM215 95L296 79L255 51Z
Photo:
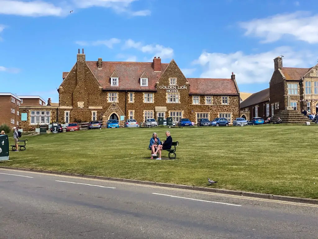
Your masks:
M100 180L105 180L105 181L125 182L125 183L153 185L153 186L155 185L155 186L160 186L160 187L187 189L187 190L194 190L194 191L201 191L201 192L216 192L216 193L237 195L237 196L243 196L243 197L274 199L274 200L280 200L280 201L309 203L309 204L317 204L318 205L317 199L296 198L296 197L263 194L263 193L256 193L256 192L243 192L243 191L234 191L234 190L227 190L227 189L197 187L197 186L180 185L180 184L167 184L167 183L159 183L159 182L139 181L139 180L133 180L133 179L124 179L124 178L116 178L116 177L102 177L102 176L93 176L93 175L66 173L66 172L56 172L56 171L47 171L47 170L24 169L24 168L14 168L14 167L5 167L5 166L0 166L0 168L19 170L19 171L29 171L29 172L41 172L41 173L45 173L45 174L57 174L57 175L63 175L63 176L93 178L93 179L100 179Z

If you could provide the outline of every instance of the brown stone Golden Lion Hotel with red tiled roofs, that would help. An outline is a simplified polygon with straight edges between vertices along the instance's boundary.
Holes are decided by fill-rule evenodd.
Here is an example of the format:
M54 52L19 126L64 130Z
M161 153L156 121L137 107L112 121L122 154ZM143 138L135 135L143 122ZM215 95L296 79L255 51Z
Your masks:
M225 117L232 123L239 117L239 88L233 73L228 79L186 78L173 59L161 63L159 57L153 62L86 61L82 50L73 68L63 72L58 92L59 106L21 108L27 113L23 127L36 125L41 114L66 123L105 122L121 116L138 122L169 116L194 122Z

